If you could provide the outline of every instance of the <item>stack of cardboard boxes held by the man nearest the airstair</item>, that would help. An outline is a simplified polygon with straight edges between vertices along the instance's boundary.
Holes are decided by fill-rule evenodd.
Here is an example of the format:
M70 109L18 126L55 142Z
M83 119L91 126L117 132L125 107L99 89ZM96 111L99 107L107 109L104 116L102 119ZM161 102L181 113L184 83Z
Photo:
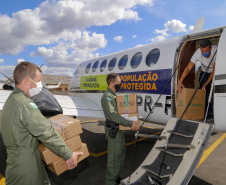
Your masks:
M130 121L137 121L139 124L139 114L137 108L136 94L120 94L116 97L118 113ZM131 130L130 127L119 125L119 130Z

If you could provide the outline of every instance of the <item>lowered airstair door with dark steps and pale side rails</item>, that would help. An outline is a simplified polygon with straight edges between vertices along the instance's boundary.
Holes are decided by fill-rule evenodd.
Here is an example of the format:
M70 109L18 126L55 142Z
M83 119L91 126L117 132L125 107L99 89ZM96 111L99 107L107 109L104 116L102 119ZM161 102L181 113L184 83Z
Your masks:
M170 118L147 158L121 184L187 185L212 130L212 124Z

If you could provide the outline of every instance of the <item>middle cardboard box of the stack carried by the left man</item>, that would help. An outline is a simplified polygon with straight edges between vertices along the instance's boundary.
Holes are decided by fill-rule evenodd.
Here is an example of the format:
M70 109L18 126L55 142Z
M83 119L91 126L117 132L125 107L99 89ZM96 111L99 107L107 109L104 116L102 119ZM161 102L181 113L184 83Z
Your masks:
M65 141L65 144L72 151L75 151L82 147L82 141L81 141L80 136L75 136L75 137ZM39 151L41 153L42 160L45 161L45 163L47 165L60 159L59 156L57 156L55 153L53 153L51 150L49 150L47 147L45 147L45 145L42 143L39 144Z

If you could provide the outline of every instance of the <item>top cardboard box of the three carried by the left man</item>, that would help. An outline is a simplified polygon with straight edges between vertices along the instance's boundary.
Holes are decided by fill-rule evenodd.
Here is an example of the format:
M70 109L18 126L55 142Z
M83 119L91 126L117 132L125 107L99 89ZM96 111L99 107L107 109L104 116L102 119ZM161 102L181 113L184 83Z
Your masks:
M82 133L80 120L70 116L58 114L49 118L49 121L65 141Z

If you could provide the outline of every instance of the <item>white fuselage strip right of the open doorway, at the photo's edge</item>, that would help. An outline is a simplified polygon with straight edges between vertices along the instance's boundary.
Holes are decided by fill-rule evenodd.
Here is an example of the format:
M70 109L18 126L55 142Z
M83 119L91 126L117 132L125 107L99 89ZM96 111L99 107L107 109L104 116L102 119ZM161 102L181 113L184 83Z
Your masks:
M226 29L221 34L215 64L214 124L215 130L226 130Z

